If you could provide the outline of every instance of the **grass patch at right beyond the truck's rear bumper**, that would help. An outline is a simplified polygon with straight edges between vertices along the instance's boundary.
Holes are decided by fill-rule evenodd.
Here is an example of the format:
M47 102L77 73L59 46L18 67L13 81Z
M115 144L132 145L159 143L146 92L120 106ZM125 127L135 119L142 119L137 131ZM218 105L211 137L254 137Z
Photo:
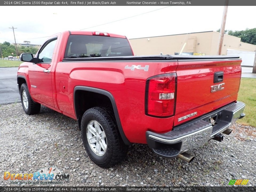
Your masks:
M244 113L246 116L237 122L243 125L256 127L256 79L242 78L240 90L238 93L238 101L245 103Z

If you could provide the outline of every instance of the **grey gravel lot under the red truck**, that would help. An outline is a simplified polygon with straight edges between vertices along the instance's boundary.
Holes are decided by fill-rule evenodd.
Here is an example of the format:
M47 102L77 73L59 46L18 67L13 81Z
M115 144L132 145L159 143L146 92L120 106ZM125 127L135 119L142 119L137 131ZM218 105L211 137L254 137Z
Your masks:
M0 106L0 186L3 173L34 173L58 167L70 174L66 186L227 186L230 179L249 179L256 186L256 129L236 124L223 142L209 141L192 163L163 159L146 145L129 148L125 161L110 169L91 162L77 122L46 107L26 115L21 103Z

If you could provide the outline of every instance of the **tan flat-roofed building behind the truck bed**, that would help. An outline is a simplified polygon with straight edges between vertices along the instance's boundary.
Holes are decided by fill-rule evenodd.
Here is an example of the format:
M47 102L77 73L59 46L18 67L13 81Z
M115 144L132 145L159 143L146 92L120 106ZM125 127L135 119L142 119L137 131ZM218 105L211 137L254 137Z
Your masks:
M135 55L174 55L181 51L184 44L183 54L217 55L219 32L205 31L129 40ZM255 51L256 45L243 43L241 38L225 34L221 54L226 55L227 49Z

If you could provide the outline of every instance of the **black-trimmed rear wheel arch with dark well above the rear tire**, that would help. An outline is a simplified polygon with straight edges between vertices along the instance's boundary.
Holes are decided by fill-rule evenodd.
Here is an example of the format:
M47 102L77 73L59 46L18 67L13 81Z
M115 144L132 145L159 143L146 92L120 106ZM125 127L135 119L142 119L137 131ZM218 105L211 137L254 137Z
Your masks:
M93 97L93 98L90 98L90 97ZM101 99L97 100L97 97ZM81 119L82 119L83 113L87 109L90 109L92 107L98 107L98 106L106 106L106 107L109 106L111 107L111 110L113 110L114 112L114 118L117 122L118 131L123 139L123 142L126 145L132 144L126 138L125 133L123 132L123 128L119 118L115 99L109 91L94 88L94 87L76 86L74 88L73 99L74 99L74 111L78 120L79 128L81 127ZM100 103L99 105L98 105L98 102ZM101 105L101 104L105 104L105 105Z

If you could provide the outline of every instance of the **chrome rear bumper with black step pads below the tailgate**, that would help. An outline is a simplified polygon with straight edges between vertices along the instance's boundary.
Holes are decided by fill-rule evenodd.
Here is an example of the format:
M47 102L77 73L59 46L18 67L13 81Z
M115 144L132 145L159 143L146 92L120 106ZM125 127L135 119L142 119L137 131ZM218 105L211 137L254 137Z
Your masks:
M147 131L147 143L159 156L175 158L179 153L198 149L210 139L219 137L237 119L245 116L243 114L244 108L244 103L236 102L174 127L172 131L167 133L159 134ZM213 117L216 120L214 125L209 121Z

